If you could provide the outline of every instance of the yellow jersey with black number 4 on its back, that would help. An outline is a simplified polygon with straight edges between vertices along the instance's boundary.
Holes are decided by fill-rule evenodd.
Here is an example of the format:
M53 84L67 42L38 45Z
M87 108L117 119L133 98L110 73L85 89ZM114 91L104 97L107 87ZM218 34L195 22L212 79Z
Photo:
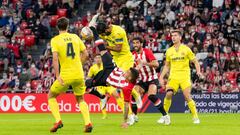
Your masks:
M80 53L86 47L76 34L61 33L51 39L52 52L58 53L63 79L84 79Z

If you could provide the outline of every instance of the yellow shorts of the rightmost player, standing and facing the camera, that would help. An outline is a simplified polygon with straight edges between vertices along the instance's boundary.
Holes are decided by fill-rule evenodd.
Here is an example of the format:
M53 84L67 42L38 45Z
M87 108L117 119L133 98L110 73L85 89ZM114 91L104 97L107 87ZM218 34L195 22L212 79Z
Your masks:
M191 86L191 79L169 79L167 83L167 88L172 88L174 93L178 91L179 87L181 87L182 90L185 90Z

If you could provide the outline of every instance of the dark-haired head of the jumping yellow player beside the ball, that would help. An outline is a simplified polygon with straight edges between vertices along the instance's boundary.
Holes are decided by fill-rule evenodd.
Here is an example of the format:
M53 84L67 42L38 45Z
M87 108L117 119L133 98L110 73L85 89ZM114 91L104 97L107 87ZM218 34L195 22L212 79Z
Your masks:
M108 18L106 18L105 20L100 20L98 23L97 23L97 32L98 34L100 35L103 35L103 36L108 36L111 34L111 20L109 20Z

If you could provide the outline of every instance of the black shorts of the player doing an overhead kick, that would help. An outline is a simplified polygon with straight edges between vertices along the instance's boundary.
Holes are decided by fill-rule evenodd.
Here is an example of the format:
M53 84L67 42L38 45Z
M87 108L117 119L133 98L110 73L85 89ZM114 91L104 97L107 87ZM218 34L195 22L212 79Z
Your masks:
M87 88L92 88L95 86L107 86L106 80L116 67L113 63L112 56L108 52L101 57L103 70L99 71L92 79L86 80L85 84Z

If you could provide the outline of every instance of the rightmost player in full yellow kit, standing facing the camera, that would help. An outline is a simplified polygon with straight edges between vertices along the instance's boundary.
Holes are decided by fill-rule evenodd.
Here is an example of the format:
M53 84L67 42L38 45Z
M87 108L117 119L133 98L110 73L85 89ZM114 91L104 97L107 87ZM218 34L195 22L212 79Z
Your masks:
M178 88L181 87L185 100L187 101L188 107L193 115L193 123L199 124L200 120L198 118L196 105L191 98L191 76L189 62L194 63L197 70L197 75L202 77L200 65L191 49L181 43L181 32L179 30L174 30L171 32L171 36L173 46L166 51L166 62L159 78L161 86L165 88L163 78L170 69L168 83L166 85L167 93L164 99L164 109L166 112L169 111L172 102L172 96L178 91ZM162 123L163 119L160 118L158 122Z

